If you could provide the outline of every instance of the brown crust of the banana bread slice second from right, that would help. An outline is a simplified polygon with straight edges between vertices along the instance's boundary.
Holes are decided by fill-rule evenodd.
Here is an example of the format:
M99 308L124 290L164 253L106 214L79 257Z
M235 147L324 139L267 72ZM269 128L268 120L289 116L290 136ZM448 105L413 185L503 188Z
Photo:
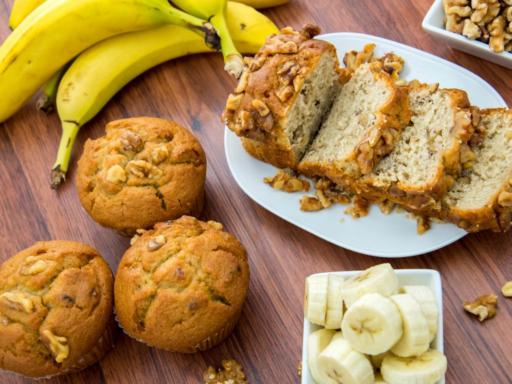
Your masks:
M418 90L425 91L428 90L428 87L428 84L422 84L418 87ZM450 106L454 114L460 111L466 111L470 108L470 102L466 92L458 89L442 89L439 90L439 92L450 95ZM470 129L470 131L472 134L473 129ZM435 172L433 172L433 177L423 183L419 188L408 185L402 181L398 181L392 185L379 186L376 180L369 176L357 179L353 183L342 185L362 195L372 203L387 199L403 205L406 209L417 215L429 215L430 217L445 219L445 215L441 212L440 200L453 185L454 178L456 178L459 173L461 142L466 142L470 139L470 134L461 137L458 133L457 135L455 133L456 132L453 131L452 145L443 152Z

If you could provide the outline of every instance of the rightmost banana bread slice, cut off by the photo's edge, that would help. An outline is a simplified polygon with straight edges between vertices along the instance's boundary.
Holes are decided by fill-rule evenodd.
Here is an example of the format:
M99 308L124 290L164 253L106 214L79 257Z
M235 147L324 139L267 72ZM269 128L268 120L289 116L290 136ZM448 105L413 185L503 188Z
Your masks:
M462 170L442 205L447 220L469 232L506 231L512 222L512 111L486 109L480 116L470 140L476 158Z

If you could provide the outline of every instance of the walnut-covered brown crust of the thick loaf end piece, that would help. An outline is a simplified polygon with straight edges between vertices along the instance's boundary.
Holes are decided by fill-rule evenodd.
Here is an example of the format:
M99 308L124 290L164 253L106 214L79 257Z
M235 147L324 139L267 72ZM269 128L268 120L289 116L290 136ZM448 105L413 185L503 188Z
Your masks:
M300 32L286 28L280 35L270 35L254 58L244 58L239 84L222 113L222 122L246 138L242 142L247 152L274 166L296 169L301 160L285 127L304 81L323 54L332 55L339 67L334 46L313 39L318 33L318 27L306 24Z

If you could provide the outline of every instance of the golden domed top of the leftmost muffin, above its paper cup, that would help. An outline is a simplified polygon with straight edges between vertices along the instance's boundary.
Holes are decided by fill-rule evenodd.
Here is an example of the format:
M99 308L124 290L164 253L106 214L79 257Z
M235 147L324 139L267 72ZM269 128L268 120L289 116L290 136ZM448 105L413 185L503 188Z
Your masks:
M76 364L113 315L112 271L93 248L47 241L0 266L0 368L29 377Z

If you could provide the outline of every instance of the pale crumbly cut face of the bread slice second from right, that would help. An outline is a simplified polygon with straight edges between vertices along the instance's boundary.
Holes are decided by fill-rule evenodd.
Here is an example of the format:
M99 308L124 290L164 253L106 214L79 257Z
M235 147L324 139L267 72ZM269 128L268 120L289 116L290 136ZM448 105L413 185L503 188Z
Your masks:
M442 171L443 152L454 145L450 131L455 112L450 94L426 88L411 90L409 105L413 112L411 123L404 127L389 156L383 158L361 179L375 186L393 183L407 189L422 191L433 185Z

